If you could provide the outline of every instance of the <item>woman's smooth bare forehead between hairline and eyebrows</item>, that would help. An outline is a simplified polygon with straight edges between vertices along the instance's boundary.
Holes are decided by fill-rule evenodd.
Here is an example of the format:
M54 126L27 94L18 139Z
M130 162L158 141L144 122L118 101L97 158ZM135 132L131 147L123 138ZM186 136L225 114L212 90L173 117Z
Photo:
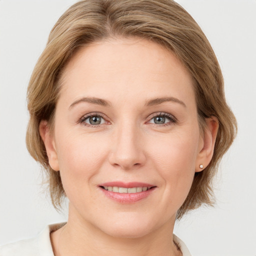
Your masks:
M70 100L172 96L194 101L192 79L178 58L157 43L137 38L109 39L79 49L61 77L61 95Z

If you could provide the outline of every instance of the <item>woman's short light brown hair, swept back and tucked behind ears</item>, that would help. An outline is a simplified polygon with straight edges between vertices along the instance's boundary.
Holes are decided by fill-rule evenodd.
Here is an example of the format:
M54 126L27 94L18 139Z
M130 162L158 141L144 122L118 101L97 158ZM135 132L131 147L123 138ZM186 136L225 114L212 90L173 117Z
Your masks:
M183 63L194 82L198 121L215 116L219 122L213 157L195 172L191 189L177 213L180 218L202 203L212 204L212 177L231 145L236 121L226 104L223 77L216 56L194 19L173 0L82 0L73 4L53 26L27 89L30 120L26 144L48 176L51 200L61 206L64 190L59 171L51 169L39 123L52 123L59 94L59 78L68 60L81 47L109 37L141 37L159 43Z

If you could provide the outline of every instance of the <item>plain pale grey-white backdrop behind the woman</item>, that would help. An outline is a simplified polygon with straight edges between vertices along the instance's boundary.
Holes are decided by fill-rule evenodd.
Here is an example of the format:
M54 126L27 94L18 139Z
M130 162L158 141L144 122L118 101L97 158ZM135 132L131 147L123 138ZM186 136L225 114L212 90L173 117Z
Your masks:
M25 146L26 87L48 33L74 0L0 0L0 244L62 222ZM176 224L192 255L256 255L256 0L179 0L220 62L238 135L215 179L215 207Z

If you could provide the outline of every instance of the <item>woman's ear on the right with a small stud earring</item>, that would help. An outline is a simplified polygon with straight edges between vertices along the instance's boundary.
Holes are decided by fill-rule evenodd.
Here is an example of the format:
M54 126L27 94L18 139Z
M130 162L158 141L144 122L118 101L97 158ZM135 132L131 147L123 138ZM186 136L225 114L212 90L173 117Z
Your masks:
M206 118L206 127L201 135L198 154L195 161L195 172L203 170L210 162L218 131L218 120L215 116ZM202 166L200 166L202 165Z

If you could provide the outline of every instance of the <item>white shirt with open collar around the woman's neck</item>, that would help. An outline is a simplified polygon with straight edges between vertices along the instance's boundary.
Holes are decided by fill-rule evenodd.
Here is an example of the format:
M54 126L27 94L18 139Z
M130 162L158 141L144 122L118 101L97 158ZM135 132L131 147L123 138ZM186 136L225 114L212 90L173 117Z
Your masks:
M47 225L33 238L1 245L0 256L54 256L50 243L50 232L57 230L64 224L65 223ZM191 256L182 240L174 234L173 239L180 248L183 256Z

